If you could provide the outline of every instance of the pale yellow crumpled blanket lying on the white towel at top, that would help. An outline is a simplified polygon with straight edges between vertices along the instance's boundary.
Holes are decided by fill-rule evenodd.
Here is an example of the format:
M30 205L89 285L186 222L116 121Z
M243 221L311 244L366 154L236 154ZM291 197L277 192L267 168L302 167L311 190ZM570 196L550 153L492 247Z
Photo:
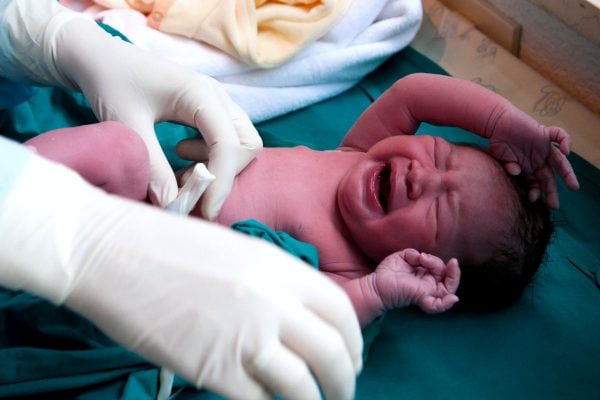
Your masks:
M215 46L260 68L282 64L342 17L352 0L94 0L148 25Z

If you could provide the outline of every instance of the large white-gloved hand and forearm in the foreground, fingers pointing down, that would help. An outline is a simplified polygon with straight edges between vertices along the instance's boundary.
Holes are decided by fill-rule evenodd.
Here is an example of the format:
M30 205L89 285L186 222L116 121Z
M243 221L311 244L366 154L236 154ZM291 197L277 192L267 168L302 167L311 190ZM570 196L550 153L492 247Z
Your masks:
M233 399L318 399L317 381L352 398L362 337L349 299L274 246L107 195L33 154L0 163L0 203L3 285Z

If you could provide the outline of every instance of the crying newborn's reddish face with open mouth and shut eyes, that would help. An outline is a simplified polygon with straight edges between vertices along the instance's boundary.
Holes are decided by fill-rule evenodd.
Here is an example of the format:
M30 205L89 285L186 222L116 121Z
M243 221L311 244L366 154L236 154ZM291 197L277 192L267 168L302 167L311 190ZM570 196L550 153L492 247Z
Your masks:
M432 136L373 146L337 191L353 239L372 259L412 247L443 259L493 250L510 215L502 168L477 149Z

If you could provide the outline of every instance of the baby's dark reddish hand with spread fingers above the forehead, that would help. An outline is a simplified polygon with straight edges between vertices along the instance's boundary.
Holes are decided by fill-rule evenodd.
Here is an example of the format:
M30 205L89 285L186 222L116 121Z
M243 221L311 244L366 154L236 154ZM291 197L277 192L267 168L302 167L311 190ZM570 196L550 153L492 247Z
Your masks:
M525 173L530 181L529 199L544 192L548 206L558 208L554 174L571 190L579 188L573 167L567 160L571 137L562 128L538 124L516 108L496 111L490 123L490 152L504 163L511 175Z

